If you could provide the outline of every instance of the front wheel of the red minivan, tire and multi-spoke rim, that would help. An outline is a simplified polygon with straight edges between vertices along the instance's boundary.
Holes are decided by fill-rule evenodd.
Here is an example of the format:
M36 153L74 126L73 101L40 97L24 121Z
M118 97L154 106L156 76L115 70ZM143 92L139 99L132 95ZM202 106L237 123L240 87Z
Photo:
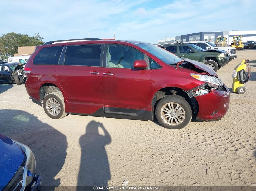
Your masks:
M163 127L181 129L191 121L192 110L184 97L169 95L158 102L155 115Z

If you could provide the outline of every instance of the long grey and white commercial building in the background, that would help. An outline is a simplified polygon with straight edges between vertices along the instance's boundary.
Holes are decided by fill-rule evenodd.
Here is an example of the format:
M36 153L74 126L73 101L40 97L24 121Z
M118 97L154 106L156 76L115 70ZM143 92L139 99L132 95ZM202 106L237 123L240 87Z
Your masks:
M243 36L242 42L248 40L256 41L256 30L244 30L244 31L219 31L219 32L199 32L192 34L185 34L176 37L164 38L157 41L157 44L164 43L176 43L187 41L200 41L207 40L211 43L216 43L218 37L226 37L227 43L230 45L233 42L234 36Z

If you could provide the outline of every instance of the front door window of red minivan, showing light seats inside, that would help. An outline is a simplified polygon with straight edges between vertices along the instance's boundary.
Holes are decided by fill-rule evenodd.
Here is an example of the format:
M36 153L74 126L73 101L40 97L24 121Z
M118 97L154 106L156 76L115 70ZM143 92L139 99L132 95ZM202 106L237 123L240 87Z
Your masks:
M108 46L107 67L133 68L133 62L135 60L144 60L144 54L127 46Z

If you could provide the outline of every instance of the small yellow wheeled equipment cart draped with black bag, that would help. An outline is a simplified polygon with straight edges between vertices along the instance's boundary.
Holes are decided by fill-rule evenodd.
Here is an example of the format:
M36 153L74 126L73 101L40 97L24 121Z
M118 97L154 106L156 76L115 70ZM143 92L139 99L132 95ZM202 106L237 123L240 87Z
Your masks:
M246 83L251 76L251 67L250 67L248 61L249 60L243 60L240 64L238 64L234 68L234 72L233 72L233 76L232 76L233 77L232 91L238 92L238 94L244 94L246 92L244 83ZM246 66L248 67L248 75L246 73ZM242 70L244 70L244 71L242 71Z

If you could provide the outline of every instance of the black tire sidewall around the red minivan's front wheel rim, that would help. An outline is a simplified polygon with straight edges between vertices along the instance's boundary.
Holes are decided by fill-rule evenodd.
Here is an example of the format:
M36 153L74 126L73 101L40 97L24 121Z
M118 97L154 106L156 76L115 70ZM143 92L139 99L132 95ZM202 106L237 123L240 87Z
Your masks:
M171 126L162 120L160 111L161 111L162 106L168 102L175 102L175 103L178 103L179 105L181 105L181 107L183 107L183 109L185 111L185 119L181 124ZM188 125L188 123L191 121L192 110L191 110L189 103L185 100L185 98L178 96L178 95L169 95L169 96L165 96L158 102L158 104L156 106L156 110L155 110L155 116L156 116L158 122L163 127L167 128L167 129L181 129L181 128L185 127L186 125Z

